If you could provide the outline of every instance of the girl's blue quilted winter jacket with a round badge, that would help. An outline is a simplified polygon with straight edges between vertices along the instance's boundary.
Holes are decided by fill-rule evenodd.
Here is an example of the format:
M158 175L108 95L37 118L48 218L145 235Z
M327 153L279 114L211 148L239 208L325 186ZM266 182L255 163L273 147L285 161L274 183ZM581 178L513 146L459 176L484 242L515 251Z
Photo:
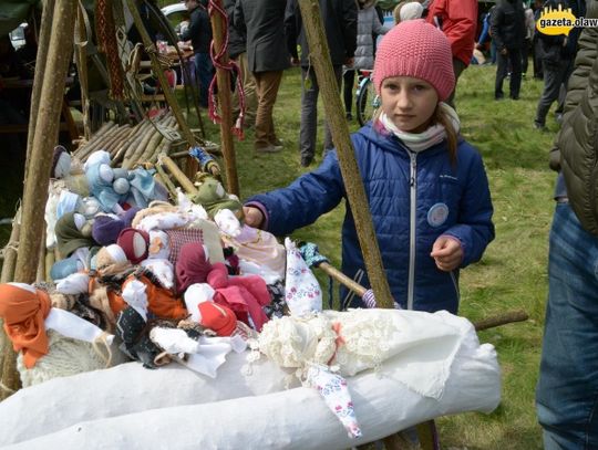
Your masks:
M463 139L456 164L450 160L446 142L415 154L371 124L351 138L395 302L403 308L456 313L458 270L439 270L430 253L437 237L450 234L461 241L461 266L465 268L478 261L494 239L482 157ZM346 197L337 153L330 151L315 171L287 188L255 196L248 203L261 207L265 228L281 236L315 222ZM342 271L353 278L359 269L364 270L363 257L347 202ZM369 285L367 278L361 284ZM360 302L352 305L362 306Z

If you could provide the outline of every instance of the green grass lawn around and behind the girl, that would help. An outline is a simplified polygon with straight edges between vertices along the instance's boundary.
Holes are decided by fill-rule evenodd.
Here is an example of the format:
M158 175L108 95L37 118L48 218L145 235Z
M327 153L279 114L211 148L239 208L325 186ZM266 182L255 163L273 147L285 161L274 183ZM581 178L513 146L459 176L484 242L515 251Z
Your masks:
M472 66L460 81L457 108L463 135L483 154L495 206L496 240L482 262L462 272L461 313L480 320L523 308L530 320L480 334L496 346L503 369L503 402L492 415L463 414L439 420L443 448L539 449L534 389L544 323L547 236L551 217L554 172L547 155L557 129L551 116L550 133L532 127L542 82L525 80L518 102L494 101L494 66ZM508 82L507 82L508 83ZM508 86L505 86L508 93ZM297 70L285 74L275 123L285 150L256 155L252 133L236 143L241 197L286 186L306 171L299 165L300 77ZM320 105L320 123L323 115ZM355 122L349 124L357 129ZM218 140L218 128L208 125ZM321 153L323 128L318 135ZM317 161L321 155L317 156ZM295 238L317 242L333 264L340 261L340 226L343 208L299 230ZM320 278L326 285L327 279Z

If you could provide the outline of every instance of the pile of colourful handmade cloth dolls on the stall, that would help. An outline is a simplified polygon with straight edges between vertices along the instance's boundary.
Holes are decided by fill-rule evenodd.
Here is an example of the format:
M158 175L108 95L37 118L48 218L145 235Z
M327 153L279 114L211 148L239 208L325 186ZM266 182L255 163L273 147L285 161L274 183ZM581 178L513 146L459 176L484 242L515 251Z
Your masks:
M285 247L243 224L239 200L217 179L203 175L199 193L179 191L172 205L153 175L113 168L103 150L83 165L56 147L45 209L47 247L59 254L52 281L0 285L0 317L20 350L22 378L49 353L45 328L89 343L107 336L156 368L189 363L223 337L235 338L227 350L245 349L283 314ZM49 321L56 312L61 320ZM226 350L216 353L189 366L215 376Z

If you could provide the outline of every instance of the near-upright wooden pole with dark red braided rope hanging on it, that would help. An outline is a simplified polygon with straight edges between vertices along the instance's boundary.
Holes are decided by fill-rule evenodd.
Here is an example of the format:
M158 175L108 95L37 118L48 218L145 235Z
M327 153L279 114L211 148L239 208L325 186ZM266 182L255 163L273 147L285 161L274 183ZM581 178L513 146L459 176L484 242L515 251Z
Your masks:
M210 14L212 34L214 40L214 53L223 53L219 57L221 65L228 63L228 52L224 49L225 39L228 30L225 29L225 21L219 12L224 12L221 0L210 0L216 8L215 14ZM225 161L226 186L229 193L239 196L239 179L237 177L237 158L235 155L235 144L233 142L233 108L230 106L230 74L226 69L216 66L216 80L218 82L218 105L220 106L220 144Z

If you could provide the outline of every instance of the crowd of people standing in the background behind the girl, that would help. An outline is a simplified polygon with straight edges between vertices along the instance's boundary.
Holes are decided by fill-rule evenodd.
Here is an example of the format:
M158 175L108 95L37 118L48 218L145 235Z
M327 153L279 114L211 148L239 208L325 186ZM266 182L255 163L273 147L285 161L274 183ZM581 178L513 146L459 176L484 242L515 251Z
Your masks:
M207 106L209 81L214 66L209 60L212 27L207 15L207 0L188 0L190 25L179 34L193 42L196 77L199 81L200 104ZM484 61L496 64L495 100L503 100L503 84L509 83L509 97L519 98L522 80L533 60L534 77L544 79L534 127L545 130L546 116L558 100L557 119L561 118L563 101L577 46L579 30L568 38L539 33L535 22L545 7L569 6L568 0L535 0L534 4L519 0L501 0L480 13L476 0L405 0L392 11L394 21L384 21L377 0L320 1L320 12L330 50L334 79L342 88L346 117L353 118L353 91L361 71L371 71L377 43L401 20L424 18L441 29L451 43L455 80L470 64ZM272 111L282 73L291 66L301 67L301 125L298 136L300 163L309 167L320 151L322 156L334 147L324 121L323 148L317 146L319 85L311 64L309 46L296 0L226 0L228 14L229 56L239 66L243 77L246 112L245 126L255 129L255 150L277 153L283 143L277 137ZM584 0L571 0L574 14L585 11ZM386 11L390 13L390 11ZM455 90L446 98L453 108ZM238 112L238 92L235 111Z

